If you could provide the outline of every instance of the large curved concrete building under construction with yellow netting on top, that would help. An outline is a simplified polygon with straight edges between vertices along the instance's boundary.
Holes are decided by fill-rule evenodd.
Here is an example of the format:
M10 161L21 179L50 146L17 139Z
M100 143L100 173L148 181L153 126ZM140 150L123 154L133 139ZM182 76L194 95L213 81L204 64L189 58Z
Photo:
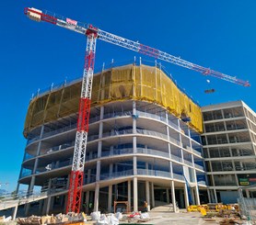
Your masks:
M41 214L67 204L81 81L34 97L18 186L48 191ZM207 202L201 108L159 65L127 64L94 75L81 208L129 210ZM18 188L17 188L18 189ZM204 194L204 195L203 195ZM206 195L205 195L206 194ZM29 213L29 206L26 208Z

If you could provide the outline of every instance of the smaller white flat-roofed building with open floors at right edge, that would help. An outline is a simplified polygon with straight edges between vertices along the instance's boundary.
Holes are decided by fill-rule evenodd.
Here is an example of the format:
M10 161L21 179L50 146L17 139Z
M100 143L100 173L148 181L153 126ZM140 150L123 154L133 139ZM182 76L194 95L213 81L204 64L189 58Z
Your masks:
M239 186L256 184L256 114L242 101L202 107L202 112L211 199L235 203Z

